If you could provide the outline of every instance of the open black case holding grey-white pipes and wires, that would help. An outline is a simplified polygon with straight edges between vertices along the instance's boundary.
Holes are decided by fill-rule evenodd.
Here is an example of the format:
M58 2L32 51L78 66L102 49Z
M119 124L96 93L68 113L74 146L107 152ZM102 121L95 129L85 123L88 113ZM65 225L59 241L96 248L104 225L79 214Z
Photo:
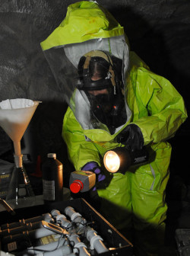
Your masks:
M53 219L42 219L43 211ZM17 209L22 217L38 214L36 218L20 220L23 226L15 224L1 226L2 251L16 256L43 254L45 256L132 256L132 245L103 216L84 199L55 202L52 205L32 206L24 212ZM17 215L17 216L18 216ZM2 217L4 213L2 213ZM12 218L12 217L11 217ZM36 219L37 222L29 222ZM10 221L10 219L9 219ZM15 222L14 222L15 223ZM5 230L9 226L9 230ZM31 226L32 229L29 228Z

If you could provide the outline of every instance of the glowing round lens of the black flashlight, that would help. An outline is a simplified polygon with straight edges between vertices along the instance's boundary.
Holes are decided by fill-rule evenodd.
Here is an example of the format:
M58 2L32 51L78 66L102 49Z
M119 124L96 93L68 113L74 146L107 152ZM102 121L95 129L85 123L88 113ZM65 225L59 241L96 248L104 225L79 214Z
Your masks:
M106 152L103 158L103 162L108 171L114 173L119 170L120 159L119 159L119 155L117 155L116 152L114 151Z

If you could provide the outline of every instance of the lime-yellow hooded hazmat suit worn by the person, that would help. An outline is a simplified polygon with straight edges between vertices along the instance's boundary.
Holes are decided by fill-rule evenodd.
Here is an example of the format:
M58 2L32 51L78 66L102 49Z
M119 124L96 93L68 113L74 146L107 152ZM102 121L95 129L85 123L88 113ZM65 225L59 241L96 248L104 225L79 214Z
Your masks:
M109 51L112 53L112 38L120 36L126 39L123 27L111 14L96 2L83 1L68 6L65 20L41 46L49 65L53 66L51 53L55 49L69 45L73 49L78 44L78 49L81 50L82 46L86 46L85 43L109 39ZM85 51L87 52L86 49L81 51L80 57ZM65 50L66 56L69 56L68 53L71 51ZM166 78L150 72L134 52L128 52L128 59L125 99L131 114L125 125L112 135L107 130L93 129L91 126L87 129L80 118L76 117L77 107L73 99L68 97L66 100L69 107L63 121L62 136L68 146L69 159L74 168L80 170L87 162L92 161L101 166L105 152L121 146L115 142L115 138L129 123L140 127L144 145L150 146L149 162L138 168L131 167L125 174L106 174L110 179L109 185L97 192L102 198L101 213L113 226L123 232L135 229L135 240L131 242L135 244L136 255L156 255L158 248L163 245L167 210L165 191L169 178L171 146L166 140L175 135L187 114L182 96ZM74 65L74 61L72 63ZM77 69L77 65L74 66ZM61 72L56 72L55 66L52 67L52 72L60 84ZM61 86L66 84L67 81L64 80ZM127 234L128 232L126 237Z

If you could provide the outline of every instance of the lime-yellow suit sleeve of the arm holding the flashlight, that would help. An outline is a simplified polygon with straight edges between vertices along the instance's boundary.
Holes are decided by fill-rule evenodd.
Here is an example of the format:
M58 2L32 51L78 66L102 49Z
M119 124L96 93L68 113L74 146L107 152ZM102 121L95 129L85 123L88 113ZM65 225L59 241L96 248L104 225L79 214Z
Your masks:
M128 107L134 114L131 122L141 128L145 145L173 137L187 118L183 98L176 88L166 78L135 63L127 91Z

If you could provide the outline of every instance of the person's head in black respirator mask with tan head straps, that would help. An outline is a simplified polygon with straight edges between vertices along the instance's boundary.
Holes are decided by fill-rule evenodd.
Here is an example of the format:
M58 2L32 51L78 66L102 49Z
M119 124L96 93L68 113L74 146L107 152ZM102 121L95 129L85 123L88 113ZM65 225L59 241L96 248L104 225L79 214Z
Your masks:
M93 117L116 128L117 114L124 106L122 60L100 50L90 51L79 61L78 75L78 89L87 94Z

